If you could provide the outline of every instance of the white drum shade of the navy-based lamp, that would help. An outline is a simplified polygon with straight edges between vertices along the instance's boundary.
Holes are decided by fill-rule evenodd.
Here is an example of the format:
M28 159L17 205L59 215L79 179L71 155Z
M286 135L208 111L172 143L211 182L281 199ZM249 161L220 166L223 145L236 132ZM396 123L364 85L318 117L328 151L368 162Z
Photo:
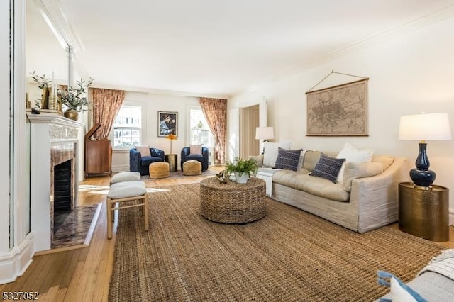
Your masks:
M401 116L399 140L450 140L447 113L422 113Z

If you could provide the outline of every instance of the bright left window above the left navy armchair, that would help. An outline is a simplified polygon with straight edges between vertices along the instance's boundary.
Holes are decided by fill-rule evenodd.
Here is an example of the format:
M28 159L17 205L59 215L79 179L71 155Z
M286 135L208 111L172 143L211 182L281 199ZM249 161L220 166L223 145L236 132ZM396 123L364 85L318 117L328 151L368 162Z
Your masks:
M121 106L114 121L114 148L140 145L142 107Z

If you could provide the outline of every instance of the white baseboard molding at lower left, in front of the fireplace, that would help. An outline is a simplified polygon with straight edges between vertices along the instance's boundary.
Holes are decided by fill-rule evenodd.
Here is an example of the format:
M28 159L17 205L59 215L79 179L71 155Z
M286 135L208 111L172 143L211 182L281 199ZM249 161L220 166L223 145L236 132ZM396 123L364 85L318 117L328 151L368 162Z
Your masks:
M0 254L0 284L13 282L22 276L33 261L34 237L32 233L17 247Z

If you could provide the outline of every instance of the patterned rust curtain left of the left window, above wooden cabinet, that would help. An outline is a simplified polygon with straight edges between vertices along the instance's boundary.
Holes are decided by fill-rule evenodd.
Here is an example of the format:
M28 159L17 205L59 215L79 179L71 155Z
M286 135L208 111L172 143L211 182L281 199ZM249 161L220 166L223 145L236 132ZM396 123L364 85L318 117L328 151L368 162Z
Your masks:
M101 124L94 133L95 139L109 138L114 119L125 99L125 91L90 88L90 99L93 104L93 124Z

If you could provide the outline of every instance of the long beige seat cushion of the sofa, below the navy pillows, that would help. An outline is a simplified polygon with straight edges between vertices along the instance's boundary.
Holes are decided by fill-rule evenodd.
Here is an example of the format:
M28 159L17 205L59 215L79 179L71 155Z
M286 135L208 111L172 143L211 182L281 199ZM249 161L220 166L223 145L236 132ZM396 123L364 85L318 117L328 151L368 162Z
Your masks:
M290 188L306 191L309 194L328 198L333 201L348 202L350 193L342 189L341 184L334 184L328 179L311 177L306 169L299 169L297 172L281 170L275 172L272 181L276 184L289 186Z

